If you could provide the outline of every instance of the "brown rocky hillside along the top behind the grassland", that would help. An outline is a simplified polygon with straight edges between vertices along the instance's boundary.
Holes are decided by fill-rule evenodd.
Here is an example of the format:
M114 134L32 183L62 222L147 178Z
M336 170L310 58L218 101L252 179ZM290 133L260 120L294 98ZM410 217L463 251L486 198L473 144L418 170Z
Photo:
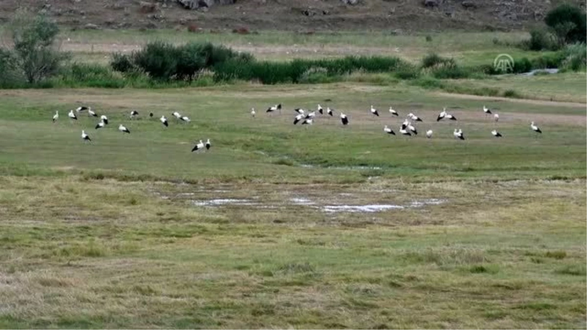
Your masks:
M88 29L479 31L535 25L552 5L549 0L1 0L0 20L26 6Z

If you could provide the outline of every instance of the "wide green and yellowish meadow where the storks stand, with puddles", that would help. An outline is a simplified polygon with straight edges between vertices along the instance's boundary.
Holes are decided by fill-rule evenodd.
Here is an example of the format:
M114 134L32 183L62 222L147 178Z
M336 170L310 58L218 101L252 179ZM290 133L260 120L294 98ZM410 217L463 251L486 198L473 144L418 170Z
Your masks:
M402 83L0 97L0 328L587 326L587 106ZM317 103L336 117L292 125ZM110 125L70 123L80 104ZM383 133L408 112L418 136Z

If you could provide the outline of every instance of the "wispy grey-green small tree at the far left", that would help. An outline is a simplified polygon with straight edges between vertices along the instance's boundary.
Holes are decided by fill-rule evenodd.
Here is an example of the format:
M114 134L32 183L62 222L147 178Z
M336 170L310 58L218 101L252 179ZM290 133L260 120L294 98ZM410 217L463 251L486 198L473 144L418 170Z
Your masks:
M19 10L8 30L14 43L17 66L29 83L54 75L68 57L55 49L59 27L44 15L33 16Z

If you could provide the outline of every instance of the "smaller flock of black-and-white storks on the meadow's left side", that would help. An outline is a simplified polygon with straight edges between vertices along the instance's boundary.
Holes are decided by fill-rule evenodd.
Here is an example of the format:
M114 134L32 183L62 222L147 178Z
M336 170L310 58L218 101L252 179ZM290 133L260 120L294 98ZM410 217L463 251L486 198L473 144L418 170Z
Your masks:
M106 127L108 125L108 117L106 115L98 116L96 114L96 112L94 112L92 110L92 107L89 107L89 106L80 106L80 107L77 107L77 109L75 109L75 112L74 112L74 110L69 110L68 118L69 118L69 120L71 122L74 122L74 121L76 122L77 121L77 116L80 113L83 113L85 111L87 112L87 115L89 117L99 117L100 118L100 122L98 122L96 124L96 126L94 127L94 129L96 129L96 130L103 129L104 127ZM184 122L184 123L191 122L190 117L182 116L177 111L171 113L171 115L174 116L178 122ZM154 114L152 112L149 113L149 118L150 119L153 119L153 117L154 117ZM139 112L137 110L132 110L130 112L130 120L135 120L135 119L138 119L138 118L139 118ZM56 123L58 120L59 120L59 111L56 111L55 112L55 115L53 115L53 123ZM167 117L165 115L161 116L159 118L159 121L161 122L161 124L163 126L169 127L169 122L168 122ZM130 130L126 126L124 126L123 124L119 124L118 130L120 132L122 132L123 134L124 133L130 134ZM88 143L91 143L92 142L92 138L90 138L90 135L86 133L86 130L82 130L82 141L85 142L85 143L86 142L88 142ZM211 146L212 146L212 144L210 142L210 139L208 139L205 143L202 142L202 140L200 140L200 142L198 142L198 143L195 144L195 146L191 149L191 151L194 152L194 151L200 151L200 150L204 150L204 149L205 150L208 150L208 149L210 149Z

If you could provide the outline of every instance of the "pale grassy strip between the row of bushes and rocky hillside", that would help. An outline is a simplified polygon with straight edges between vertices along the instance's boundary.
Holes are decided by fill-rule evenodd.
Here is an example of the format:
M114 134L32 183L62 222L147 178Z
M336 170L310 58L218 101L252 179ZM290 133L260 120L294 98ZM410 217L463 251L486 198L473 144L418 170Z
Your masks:
M431 41L426 41L426 36ZM186 31L64 31L63 50L73 52L76 60L107 63L112 52L131 52L149 41L173 43L212 42L250 52L259 59L324 58L345 55L400 56L418 62L430 52L454 57L463 65L491 64L495 56L508 53L514 58L533 58L539 53L524 52L517 45L528 39L525 32L442 32L419 35L394 35L390 32L336 32L306 35L293 32L262 31L239 35L190 33Z

